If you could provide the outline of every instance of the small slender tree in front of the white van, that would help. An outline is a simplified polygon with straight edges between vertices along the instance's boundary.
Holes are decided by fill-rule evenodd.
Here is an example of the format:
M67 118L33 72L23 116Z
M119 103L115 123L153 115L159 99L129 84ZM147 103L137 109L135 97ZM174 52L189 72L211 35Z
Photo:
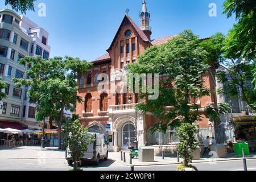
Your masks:
M65 141L64 146L69 148L74 162L74 170L77 171L77 162L88 149L88 145L93 142L93 135L88 135L88 128L80 123L80 119L73 117L68 119L64 125Z

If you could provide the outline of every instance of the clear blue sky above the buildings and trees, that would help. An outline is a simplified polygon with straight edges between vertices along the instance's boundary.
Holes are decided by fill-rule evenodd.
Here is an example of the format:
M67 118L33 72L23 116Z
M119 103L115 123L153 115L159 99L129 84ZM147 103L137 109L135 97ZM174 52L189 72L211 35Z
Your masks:
M147 0L151 13L152 39L191 29L200 38L227 34L235 22L222 14L224 0ZM46 4L46 17L38 16L38 4ZM217 17L210 17L210 3L217 5ZM0 9L6 8L0 2ZM10 8L10 7L9 7ZM125 15L139 25L142 0L38 0L35 12L26 16L49 32L51 57L73 56L92 61L106 53ZM19 13L20 14L20 13Z

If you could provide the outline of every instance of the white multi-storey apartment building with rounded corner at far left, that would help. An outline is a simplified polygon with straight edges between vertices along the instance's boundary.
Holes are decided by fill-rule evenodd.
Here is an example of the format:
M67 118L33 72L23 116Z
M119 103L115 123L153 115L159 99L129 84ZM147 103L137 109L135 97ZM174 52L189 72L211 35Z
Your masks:
M41 129L35 121L35 105L29 104L29 88L16 88L12 78L27 78L25 65L19 59L24 56L40 55L49 58L48 32L26 16L20 16L12 10L0 10L0 75L8 85L8 96L1 101L0 128Z

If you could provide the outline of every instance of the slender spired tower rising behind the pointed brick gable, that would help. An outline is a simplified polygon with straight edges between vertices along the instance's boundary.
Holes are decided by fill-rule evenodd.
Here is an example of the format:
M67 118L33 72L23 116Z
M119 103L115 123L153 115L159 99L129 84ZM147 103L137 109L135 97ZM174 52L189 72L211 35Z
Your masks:
M139 14L139 19L141 20L141 30L143 30L147 38L150 40L150 36L152 34L150 28L150 13L147 12L147 3L145 0L142 2L142 12Z

